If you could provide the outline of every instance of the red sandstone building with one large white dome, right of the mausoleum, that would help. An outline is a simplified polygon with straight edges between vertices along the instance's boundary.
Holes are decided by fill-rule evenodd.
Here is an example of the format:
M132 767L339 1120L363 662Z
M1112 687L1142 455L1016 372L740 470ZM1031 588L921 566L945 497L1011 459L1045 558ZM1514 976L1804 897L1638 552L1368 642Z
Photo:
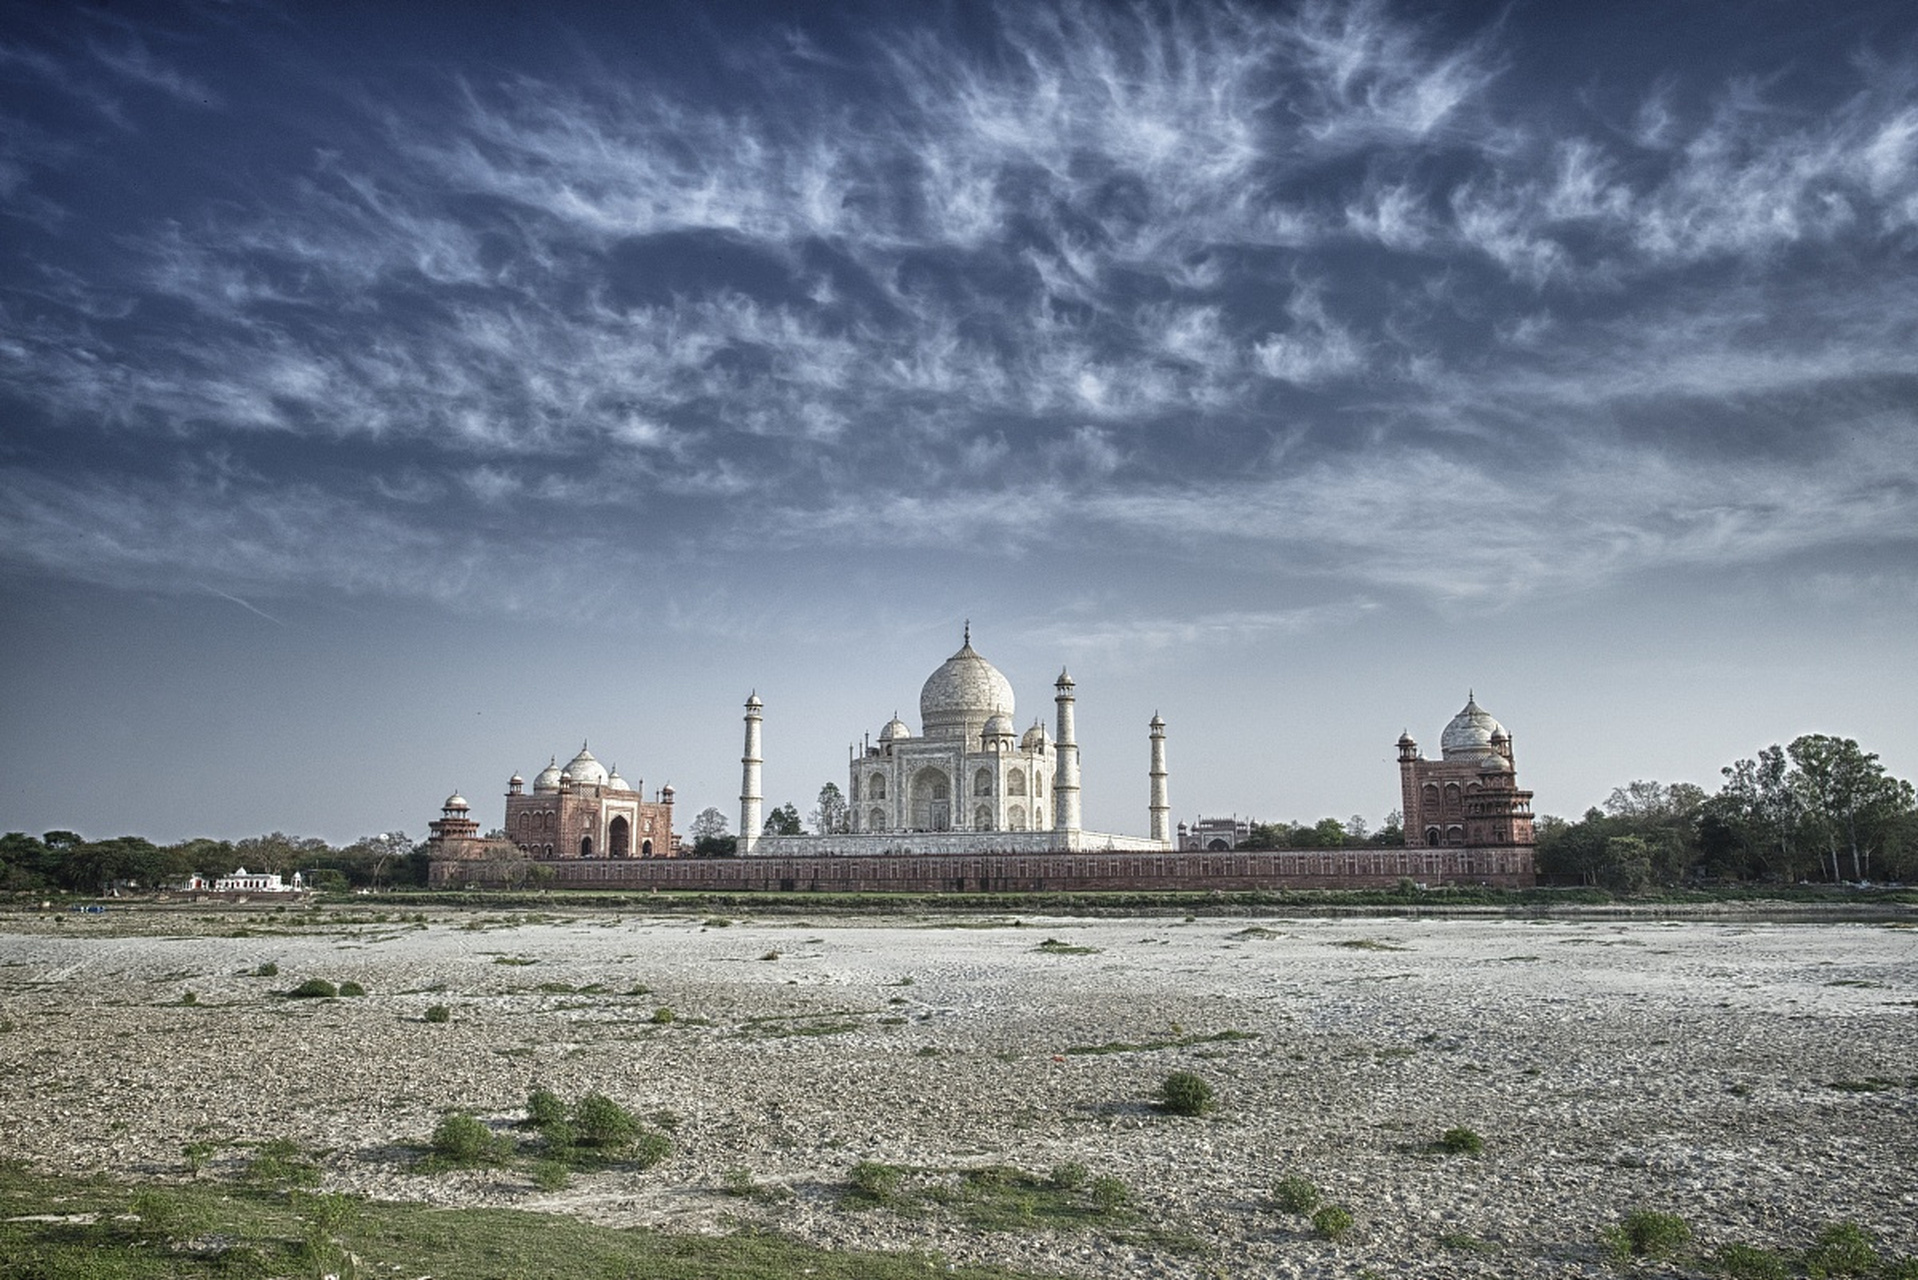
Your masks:
M1444 727L1438 752L1438 760L1425 760L1410 733L1398 737L1406 848L1534 842L1532 793L1519 791L1511 735L1469 693Z

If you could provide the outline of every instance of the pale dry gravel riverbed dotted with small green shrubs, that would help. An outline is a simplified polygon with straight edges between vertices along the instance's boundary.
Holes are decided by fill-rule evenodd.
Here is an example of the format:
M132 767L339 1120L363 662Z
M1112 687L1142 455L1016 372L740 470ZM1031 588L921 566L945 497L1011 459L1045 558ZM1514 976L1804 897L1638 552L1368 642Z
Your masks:
M368 994L278 994L309 977ZM1247 1038L1072 1052L1218 1032ZM1151 1105L1176 1069L1214 1115ZM1851 1221L1918 1255L1910 919L15 913L0 1079L0 1157L44 1171L184 1174L184 1144L213 1142L213 1174L295 1138L332 1190L1074 1276L1609 1276L1600 1234L1636 1207L1705 1247ZM673 1157L554 1194L410 1171L447 1107L504 1126L535 1084L671 1111ZM1456 1125L1481 1155L1433 1153ZM980 1234L848 1207L865 1159L1078 1161L1135 1213ZM738 1169L792 1196L723 1194ZM1352 1236L1274 1209L1285 1174Z

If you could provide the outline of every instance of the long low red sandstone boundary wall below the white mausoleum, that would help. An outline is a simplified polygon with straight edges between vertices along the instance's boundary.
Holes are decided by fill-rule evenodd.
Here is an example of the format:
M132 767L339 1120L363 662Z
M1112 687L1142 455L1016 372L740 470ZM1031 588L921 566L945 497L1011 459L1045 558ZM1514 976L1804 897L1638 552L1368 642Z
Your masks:
M627 889L704 892L1080 892L1435 889L1536 883L1529 844L1496 848L1281 848L1229 852L913 854L863 858L441 860L435 889Z

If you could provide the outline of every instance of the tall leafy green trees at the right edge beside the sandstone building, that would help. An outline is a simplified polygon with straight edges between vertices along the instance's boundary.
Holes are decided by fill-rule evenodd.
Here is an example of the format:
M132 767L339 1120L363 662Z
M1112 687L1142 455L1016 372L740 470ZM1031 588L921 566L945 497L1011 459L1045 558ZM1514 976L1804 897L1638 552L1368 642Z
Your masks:
M1579 821L1538 819L1538 875L1651 885L1918 879L1912 785L1849 737L1807 733L1692 783L1634 781Z

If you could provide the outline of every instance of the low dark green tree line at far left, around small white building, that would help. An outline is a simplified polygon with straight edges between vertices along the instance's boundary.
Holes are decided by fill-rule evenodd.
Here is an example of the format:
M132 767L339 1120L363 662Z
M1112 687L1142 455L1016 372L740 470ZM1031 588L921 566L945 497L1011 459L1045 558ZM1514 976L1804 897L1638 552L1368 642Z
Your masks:
M138 835L88 841L77 831L0 835L0 890L109 892L117 885L142 890L180 885L190 875L221 877L238 867L292 875L301 871L315 889L389 889L426 885L426 844L405 831L368 835L351 844L282 831L244 841L196 837L155 844Z

